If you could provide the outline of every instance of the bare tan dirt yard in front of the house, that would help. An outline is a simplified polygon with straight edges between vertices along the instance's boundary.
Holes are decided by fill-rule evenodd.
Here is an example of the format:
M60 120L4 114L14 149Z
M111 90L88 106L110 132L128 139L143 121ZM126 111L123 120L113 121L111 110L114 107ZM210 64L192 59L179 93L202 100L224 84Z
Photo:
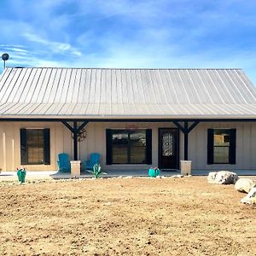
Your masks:
M256 255L256 208L207 177L0 183L0 255Z

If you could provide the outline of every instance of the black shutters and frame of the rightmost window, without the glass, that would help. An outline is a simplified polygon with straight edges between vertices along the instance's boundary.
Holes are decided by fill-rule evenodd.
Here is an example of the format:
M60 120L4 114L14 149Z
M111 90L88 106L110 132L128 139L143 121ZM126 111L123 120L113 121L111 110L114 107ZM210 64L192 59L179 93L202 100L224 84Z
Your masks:
M230 134L230 146L215 146L214 131L225 130ZM214 162L214 148L229 147L228 162ZM207 130L207 164L208 165L236 165L236 129L234 128L212 128Z

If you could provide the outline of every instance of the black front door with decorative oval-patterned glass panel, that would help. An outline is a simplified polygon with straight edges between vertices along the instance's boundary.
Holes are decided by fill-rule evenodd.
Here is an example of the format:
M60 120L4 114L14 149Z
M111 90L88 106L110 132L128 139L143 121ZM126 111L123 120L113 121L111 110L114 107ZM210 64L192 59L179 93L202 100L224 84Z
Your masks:
M178 169L179 132L176 128L159 129L159 168Z

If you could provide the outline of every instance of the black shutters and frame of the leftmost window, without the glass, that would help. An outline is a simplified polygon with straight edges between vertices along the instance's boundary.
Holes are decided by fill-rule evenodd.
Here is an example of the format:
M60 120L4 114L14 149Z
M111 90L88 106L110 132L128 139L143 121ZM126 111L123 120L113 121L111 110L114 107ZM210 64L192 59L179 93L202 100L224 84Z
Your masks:
M27 131L40 130L44 134L44 162L28 162ZM20 163L27 166L50 165L50 132L49 128L21 128L20 129Z

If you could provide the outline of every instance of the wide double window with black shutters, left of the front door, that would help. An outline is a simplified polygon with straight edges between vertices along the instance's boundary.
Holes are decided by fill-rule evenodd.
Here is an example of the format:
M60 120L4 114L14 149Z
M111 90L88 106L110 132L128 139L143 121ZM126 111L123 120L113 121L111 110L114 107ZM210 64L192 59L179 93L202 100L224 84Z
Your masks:
M152 131L107 130L107 164L151 164Z

